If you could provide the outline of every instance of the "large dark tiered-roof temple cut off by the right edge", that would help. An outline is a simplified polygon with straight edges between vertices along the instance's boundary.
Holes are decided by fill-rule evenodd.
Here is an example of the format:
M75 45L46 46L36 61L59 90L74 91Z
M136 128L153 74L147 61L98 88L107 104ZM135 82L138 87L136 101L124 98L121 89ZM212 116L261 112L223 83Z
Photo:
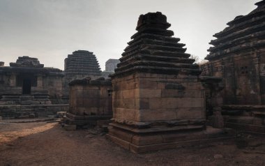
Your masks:
M227 127L265 133L265 1L256 5L215 33L202 74L223 78Z

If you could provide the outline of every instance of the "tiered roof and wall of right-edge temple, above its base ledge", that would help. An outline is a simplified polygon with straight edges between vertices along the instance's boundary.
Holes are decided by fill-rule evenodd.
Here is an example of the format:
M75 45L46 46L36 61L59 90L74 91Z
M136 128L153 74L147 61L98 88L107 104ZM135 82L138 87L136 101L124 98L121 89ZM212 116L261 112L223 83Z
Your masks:
M204 75L223 77L225 104L264 105L264 1L248 15L235 17L215 33Z

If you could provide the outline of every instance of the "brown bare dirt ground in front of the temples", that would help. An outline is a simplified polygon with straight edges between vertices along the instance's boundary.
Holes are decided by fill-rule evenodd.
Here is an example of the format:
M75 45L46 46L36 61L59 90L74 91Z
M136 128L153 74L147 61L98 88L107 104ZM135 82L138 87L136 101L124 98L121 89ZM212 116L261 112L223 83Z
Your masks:
M137 154L113 144L105 135L91 135L88 129L66 131L58 123L0 121L0 165L262 166L265 165L264 139L243 135L241 142L229 140Z

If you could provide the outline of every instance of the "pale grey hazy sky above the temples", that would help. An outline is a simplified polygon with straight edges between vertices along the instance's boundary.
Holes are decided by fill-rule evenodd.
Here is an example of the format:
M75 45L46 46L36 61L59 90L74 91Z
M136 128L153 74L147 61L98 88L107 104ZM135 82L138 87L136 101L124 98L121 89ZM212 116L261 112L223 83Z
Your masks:
M0 61L36 57L63 69L75 50L96 54L102 70L119 59L139 15L160 11L187 53L204 59L213 34L261 0L0 0Z

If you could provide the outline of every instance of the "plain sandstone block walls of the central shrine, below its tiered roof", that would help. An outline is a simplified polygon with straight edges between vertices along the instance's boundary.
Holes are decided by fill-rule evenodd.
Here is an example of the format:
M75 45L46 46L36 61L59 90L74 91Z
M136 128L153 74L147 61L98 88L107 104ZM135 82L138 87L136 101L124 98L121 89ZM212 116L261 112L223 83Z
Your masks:
M196 76L135 73L112 84L113 116L119 123L150 126L181 120L193 126L205 120L204 93Z

